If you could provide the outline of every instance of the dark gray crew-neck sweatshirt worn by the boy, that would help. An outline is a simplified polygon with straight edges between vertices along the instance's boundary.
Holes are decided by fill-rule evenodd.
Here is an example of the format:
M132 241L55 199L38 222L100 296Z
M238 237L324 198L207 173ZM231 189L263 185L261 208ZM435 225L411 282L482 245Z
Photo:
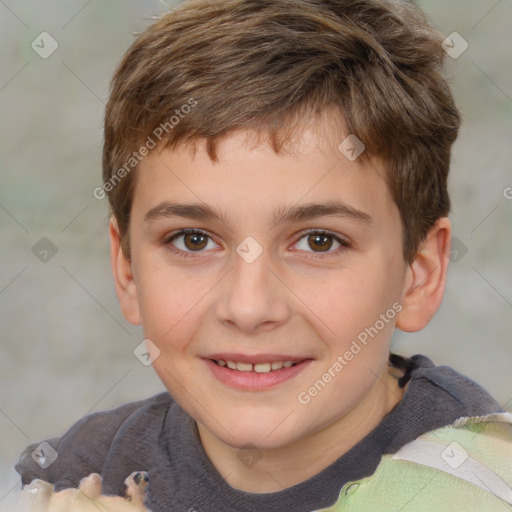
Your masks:
M462 416L502 412L478 384L422 355L403 359L409 386L381 423L330 466L308 480L274 493L230 487L205 454L195 421L166 391L115 409L88 414L64 435L46 439L58 458L43 469L29 445L15 469L22 484L40 478L55 490L77 487L92 472L104 494L124 494L133 471L149 473L146 506L152 512L311 512L334 504L341 487L373 474L382 455ZM395 361L396 362L396 361ZM369 510L371 504L369 504Z

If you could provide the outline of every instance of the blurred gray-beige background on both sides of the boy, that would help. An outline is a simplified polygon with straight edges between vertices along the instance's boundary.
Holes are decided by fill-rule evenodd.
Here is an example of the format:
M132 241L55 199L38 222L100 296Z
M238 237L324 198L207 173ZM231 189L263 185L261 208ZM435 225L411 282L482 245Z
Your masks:
M121 315L107 205L92 191L112 72L169 5L0 0L0 506L29 443L164 390L133 354L142 331ZM451 36L453 55L468 43L447 57L464 117L450 180L456 252L440 311L419 333L397 332L393 349L456 368L512 410L512 0L420 5L463 38Z

